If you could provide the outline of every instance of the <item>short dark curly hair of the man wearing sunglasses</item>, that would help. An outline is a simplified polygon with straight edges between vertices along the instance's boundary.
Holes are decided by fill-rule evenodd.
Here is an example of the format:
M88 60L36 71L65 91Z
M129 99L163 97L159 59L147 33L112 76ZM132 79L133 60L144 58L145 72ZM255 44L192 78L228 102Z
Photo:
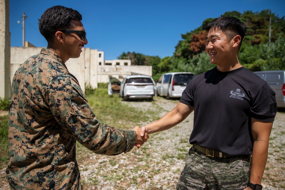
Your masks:
M40 19L38 19L38 29L46 38L48 44L50 44L53 42L55 31L72 29L74 27L71 20L82 21L82 15L72 8L57 5L44 11Z

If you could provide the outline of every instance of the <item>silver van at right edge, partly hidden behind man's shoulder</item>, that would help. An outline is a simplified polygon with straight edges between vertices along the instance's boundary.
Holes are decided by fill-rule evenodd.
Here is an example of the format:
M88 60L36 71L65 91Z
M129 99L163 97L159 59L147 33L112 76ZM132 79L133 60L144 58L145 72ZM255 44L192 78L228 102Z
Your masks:
M285 70L255 71L275 91L277 107L285 108Z

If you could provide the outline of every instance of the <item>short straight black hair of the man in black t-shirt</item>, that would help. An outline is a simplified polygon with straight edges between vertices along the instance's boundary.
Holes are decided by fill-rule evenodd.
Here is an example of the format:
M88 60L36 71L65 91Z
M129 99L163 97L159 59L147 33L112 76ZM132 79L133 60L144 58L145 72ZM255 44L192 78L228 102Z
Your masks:
M235 17L219 17L206 26L206 31L209 32L211 28L221 30L227 35L228 39L232 39L236 35L240 35L241 42L243 41L245 32L247 31L245 24ZM241 46L241 42L239 47Z

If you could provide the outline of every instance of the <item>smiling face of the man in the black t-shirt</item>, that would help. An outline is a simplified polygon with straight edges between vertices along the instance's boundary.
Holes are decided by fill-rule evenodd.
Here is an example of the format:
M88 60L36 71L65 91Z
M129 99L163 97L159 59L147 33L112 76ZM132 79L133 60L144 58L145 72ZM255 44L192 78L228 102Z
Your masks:
M230 61L234 58L232 39L227 38L227 35L221 30L211 28L207 35L206 51L210 56L211 64L225 66L231 64Z

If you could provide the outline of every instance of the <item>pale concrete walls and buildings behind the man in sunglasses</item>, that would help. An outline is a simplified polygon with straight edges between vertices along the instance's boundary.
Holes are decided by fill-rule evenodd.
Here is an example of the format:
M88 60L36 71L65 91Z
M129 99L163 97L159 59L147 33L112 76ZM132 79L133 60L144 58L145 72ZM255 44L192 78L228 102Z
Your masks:
M33 47L11 47L11 80L20 65L29 57L38 54L40 50L41 48ZM70 58L65 64L69 72L78 79L83 91L85 91L85 85L97 88L98 83L108 83L111 76L121 81L127 75L132 74L152 76L152 66L132 66L131 60L110 61L112 65L99 65L99 62L104 63L104 52L97 51L97 49L82 48L79 58Z

